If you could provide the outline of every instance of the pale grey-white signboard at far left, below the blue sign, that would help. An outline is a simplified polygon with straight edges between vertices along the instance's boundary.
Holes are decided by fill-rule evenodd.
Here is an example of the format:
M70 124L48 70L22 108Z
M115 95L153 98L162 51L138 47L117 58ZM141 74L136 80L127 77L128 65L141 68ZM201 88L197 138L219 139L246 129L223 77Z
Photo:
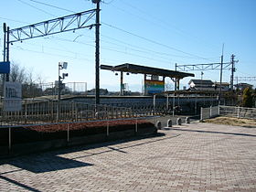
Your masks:
M5 82L4 85L4 111L19 112L22 110L21 83Z

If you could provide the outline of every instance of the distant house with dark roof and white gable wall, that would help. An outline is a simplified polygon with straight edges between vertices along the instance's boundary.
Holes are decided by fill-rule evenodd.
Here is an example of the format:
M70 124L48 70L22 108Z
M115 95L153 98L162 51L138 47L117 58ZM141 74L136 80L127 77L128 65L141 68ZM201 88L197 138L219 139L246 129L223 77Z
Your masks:
M188 90L215 91L211 80L189 80L188 85Z

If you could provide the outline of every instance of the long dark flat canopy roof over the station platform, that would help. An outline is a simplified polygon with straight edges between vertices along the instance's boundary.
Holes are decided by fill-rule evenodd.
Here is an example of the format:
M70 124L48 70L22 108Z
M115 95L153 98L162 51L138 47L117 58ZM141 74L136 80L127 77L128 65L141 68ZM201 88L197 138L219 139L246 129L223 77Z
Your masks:
M169 70L169 69L152 68L152 67L146 67L141 65L134 65L130 63L124 63L122 65L117 65L117 66L101 65L101 69L140 73L140 74L151 74L151 75L158 75L158 76L177 78L177 79L183 79L186 77L195 77L193 73L179 72L176 70Z

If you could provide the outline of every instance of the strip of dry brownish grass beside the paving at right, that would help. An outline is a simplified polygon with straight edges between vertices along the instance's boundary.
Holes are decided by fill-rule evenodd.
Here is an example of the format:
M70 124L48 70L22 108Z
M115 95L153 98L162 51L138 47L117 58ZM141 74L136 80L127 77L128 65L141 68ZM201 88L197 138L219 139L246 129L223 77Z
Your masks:
M213 119L205 120L204 122L256 128L256 120L240 119L235 117L216 117Z

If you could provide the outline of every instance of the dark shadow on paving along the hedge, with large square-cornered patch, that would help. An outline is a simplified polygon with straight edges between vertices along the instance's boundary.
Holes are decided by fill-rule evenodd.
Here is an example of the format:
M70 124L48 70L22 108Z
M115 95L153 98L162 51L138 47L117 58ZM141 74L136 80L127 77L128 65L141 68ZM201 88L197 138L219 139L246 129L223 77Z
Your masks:
M99 155L102 153L108 153L108 152L120 152L120 153L127 153L123 151L125 148L133 147L136 145L141 145L141 144L149 144L153 142L157 142L163 139L167 138L159 138L165 136L164 133L156 133L155 136L148 135L148 136L138 136L134 138L129 138L129 139L123 139L123 140L118 140L118 141L112 141L112 142L106 142L106 143L101 143L101 144L90 144L90 145L78 145L78 146L71 146L69 148L60 148L48 152L41 152L37 154L32 154L32 155L21 155L21 156L16 156L12 158L6 158L0 160L0 165L14 165L17 168L17 171L22 171L22 170L27 170L32 173L45 173L45 172L50 172L50 171L57 171L57 170L63 170L63 169L69 169L69 168L76 168L76 167L83 167L83 166L91 166L92 164L89 163L83 163L80 161L77 161L75 159L79 159L82 157L86 156L91 156L91 155ZM156 140L153 141L143 141L145 138L154 138ZM142 140L142 143L139 144L133 144L125 147L112 147L114 144L123 144L126 142L131 142L131 141L140 141ZM75 152L80 152L84 150L89 150L93 148L99 148L99 147L106 147L103 151L99 153L87 153L87 155L82 155L80 157L75 157L75 158L65 158L59 155L63 154L69 154L69 153L75 153ZM0 171L0 176L5 173L1 173Z

